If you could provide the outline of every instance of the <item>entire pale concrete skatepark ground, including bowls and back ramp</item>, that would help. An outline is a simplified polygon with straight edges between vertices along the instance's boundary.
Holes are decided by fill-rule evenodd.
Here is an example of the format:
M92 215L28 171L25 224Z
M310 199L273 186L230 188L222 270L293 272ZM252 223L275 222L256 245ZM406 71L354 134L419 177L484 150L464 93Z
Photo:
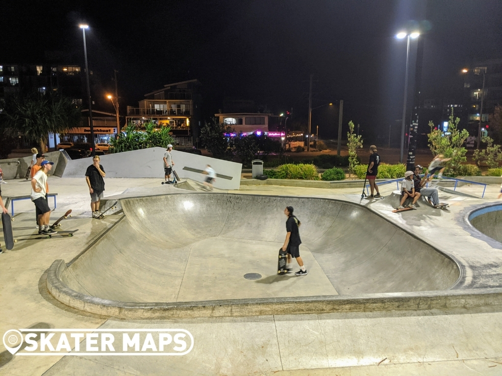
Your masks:
M209 193L196 172L206 159L178 153L182 181L164 186L158 152L132 153L102 158L103 205L115 209L101 221L79 174L89 161L59 159L51 218L72 209L62 222L78 229L72 238L29 239L33 205L16 202L18 242L0 255L2 326L178 326L194 335L192 352L146 361L4 351L0 374L499 374L500 182L484 198L474 184L440 191L447 210L419 201L392 213L396 183L381 185L381 201L362 200L360 186L253 181ZM240 180L240 168L215 169L222 183ZM4 197L26 194L24 179L7 181ZM302 222L306 276L277 275L285 206Z

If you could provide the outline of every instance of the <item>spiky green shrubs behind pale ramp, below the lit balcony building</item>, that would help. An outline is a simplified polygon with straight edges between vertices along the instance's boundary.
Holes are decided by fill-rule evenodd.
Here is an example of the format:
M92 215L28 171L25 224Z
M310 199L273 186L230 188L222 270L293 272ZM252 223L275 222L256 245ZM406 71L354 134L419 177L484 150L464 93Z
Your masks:
M116 139L111 139L110 144L113 146L111 151L118 153L122 151L131 151L138 149L146 149L148 147L163 147L167 149L167 145L174 142L173 137L169 134L171 127L161 127L157 129L152 120L144 122L145 131L139 130L137 125L129 122Z

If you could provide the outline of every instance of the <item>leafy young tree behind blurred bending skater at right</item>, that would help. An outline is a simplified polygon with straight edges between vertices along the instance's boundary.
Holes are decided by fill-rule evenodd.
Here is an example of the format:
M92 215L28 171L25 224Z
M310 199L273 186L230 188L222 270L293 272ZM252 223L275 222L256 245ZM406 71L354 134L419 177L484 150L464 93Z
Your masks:
M469 137L469 132L465 129L460 131L458 129L459 122L460 119L458 117L454 118L452 109L448 120L447 131L443 132L439 127L436 127L432 121L429 121L431 132L427 135L429 139L429 148L434 156L443 154L445 158L451 158L451 160L447 162L447 166L450 168L449 174L452 175L457 175L461 162L467 160L465 157L467 149L462 145L467 137Z

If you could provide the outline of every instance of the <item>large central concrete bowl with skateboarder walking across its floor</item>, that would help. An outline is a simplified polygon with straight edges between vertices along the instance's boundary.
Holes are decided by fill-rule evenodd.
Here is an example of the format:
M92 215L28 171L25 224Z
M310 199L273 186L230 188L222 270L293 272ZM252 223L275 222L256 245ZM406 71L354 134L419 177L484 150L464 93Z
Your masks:
M113 227L49 268L49 292L64 304L123 318L430 308L448 304L462 274L451 257L346 201L181 193L120 204ZM277 275L286 206L302 222L306 276Z

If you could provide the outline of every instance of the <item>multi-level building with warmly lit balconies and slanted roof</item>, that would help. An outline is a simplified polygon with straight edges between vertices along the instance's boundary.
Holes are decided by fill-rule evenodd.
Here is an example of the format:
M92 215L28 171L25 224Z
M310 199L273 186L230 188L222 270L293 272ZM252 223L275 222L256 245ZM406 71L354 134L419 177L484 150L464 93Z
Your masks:
M158 127L169 126L177 145L197 145L200 134L200 82L189 80L164 85L145 94L138 107L127 107L126 122L140 126L152 120Z

